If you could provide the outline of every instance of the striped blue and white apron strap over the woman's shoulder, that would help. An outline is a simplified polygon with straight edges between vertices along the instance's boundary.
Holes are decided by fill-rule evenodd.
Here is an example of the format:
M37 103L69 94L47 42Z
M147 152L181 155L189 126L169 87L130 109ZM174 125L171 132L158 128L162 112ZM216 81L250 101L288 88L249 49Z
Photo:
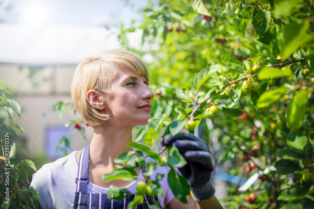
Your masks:
M88 162L89 162L89 144L84 147L79 157L78 177L75 180L77 192L87 192L88 179Z

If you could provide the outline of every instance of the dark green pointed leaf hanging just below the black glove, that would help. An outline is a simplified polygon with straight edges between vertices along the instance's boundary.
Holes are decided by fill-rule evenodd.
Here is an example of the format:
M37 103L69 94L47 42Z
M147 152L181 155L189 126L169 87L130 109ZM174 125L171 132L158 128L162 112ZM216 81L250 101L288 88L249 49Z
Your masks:
M171 169L168 174L168 183L176 198L187 204L186 196L190 194L190 186L186 178Z

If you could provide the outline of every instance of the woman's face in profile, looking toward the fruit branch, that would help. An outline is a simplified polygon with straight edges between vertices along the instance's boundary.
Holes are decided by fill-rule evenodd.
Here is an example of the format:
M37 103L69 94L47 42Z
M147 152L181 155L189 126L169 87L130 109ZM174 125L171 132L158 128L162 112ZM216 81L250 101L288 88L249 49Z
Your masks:
M110 114L111 122L145 125L151 118L150 100L154 96L144 77L122 69L111 82L109 93L104 96L105 112Z

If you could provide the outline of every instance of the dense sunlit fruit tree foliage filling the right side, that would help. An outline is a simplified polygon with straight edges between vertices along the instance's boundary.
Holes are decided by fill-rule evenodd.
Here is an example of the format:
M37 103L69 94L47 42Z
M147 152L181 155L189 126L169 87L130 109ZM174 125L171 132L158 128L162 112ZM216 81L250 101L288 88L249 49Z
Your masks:
M157 94L138 135L154 145L210 119L219 161L233 162L225 169L257 180L230 185L228 208L314 205L313 11L309 0L159 0L139 26L122 27L121 43L149 62Z

